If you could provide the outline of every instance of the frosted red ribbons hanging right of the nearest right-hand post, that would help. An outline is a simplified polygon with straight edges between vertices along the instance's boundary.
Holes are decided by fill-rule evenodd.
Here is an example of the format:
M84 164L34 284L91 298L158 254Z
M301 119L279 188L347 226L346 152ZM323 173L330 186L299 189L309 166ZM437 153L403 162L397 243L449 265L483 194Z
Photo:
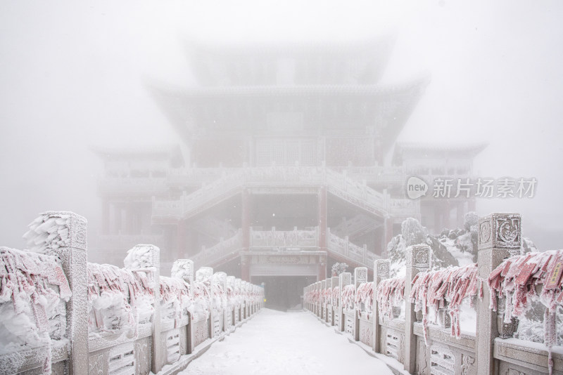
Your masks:
M533 301L545 308L543 335L549 350L550 372L552 348L557 344L557 310L563 307L562 274L563 250L557 250L512 256L488 277L491 309L504 315L504 323L510 324L513 317L524 317Z

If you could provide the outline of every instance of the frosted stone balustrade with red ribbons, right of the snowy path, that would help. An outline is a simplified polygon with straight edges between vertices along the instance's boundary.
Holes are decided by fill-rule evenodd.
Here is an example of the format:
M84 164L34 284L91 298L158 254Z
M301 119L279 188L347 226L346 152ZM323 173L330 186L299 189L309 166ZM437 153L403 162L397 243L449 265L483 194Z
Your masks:
M481 218L476 264L429 271L429 246L410 246L405 277L389 279L389 261L377 259L373 281L355 268L354 277L345 272L316 282L303 289L303 307L411 374L563 374L555 323L563 306L563 251L519 255L520 220L514 213ZM328 294L330 300L321 297ZM545 344L512 336L514 315L529 303L524 294L547 304ZM460 326L464 318L474 327Z

